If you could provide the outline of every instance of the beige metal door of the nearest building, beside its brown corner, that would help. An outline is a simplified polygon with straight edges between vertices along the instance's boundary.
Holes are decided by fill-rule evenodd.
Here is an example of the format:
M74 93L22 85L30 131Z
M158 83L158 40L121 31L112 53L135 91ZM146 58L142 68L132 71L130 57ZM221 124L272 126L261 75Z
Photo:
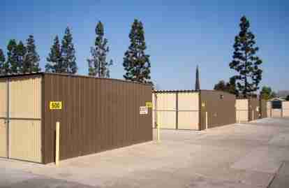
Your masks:
M42 162L41 78L10 80L10 158Z

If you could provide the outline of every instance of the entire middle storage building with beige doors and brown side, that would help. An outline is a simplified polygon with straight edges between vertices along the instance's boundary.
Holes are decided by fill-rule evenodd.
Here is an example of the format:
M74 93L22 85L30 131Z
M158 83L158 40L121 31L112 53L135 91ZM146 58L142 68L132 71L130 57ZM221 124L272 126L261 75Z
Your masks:
M235 123L235 96L209 90L154 91L153 110L154 127L203 130Z

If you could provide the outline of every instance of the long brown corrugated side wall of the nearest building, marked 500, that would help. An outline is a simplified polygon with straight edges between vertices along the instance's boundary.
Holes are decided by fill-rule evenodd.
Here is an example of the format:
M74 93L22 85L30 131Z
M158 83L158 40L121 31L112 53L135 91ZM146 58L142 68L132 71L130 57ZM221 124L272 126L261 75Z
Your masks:
M151 86L112 79L44 75L44 163L54 161L55 123L60 122L60 159L152 140ZM62 110L50 110L62 101Z

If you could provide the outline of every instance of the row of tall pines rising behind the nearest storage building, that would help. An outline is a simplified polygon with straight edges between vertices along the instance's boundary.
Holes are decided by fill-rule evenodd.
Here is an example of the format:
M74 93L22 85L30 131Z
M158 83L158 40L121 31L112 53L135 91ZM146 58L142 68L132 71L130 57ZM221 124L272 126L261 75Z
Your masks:
M87 59L89 75L99 78L110 78L110 66L112 59L108 59L108 39L105 38L105 29L102 22L96 25L96 39L94 46L90 48L91 57ZM131 45L124 53L124 79L133 82L151 83L149 55L145 53L147 45L144 40L144 27L142 22L134 20L129 34ZM7 58L0 49L0 75L12 73L31 73L40 71L40 57L36 52L33 36L27 39L27 45L22 41L17 43L10 40L7 46ZM77 73L77 63L73 36L71 29L66 28L61 42L59 36L55 36L50 53L46 58L45 72L50 73Z

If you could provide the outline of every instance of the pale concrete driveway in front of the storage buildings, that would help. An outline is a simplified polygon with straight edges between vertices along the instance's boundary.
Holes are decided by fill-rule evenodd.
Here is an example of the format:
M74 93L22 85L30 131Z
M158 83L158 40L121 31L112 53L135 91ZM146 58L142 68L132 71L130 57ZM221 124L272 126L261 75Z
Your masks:
M161 136L59 168L0 159L0 187L289 187L289 119Z

